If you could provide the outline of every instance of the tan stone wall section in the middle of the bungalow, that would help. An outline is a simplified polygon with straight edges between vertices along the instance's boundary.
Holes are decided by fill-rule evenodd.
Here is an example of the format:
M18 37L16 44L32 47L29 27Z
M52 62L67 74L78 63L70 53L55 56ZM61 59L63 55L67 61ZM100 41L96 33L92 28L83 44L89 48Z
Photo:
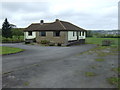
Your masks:
M59 37L53 36L53 31L46 31L46 36L40 36L40 32L36 33L36 42L41 42L41 40L48 40L54 43L67 43L67 31L61 31Z

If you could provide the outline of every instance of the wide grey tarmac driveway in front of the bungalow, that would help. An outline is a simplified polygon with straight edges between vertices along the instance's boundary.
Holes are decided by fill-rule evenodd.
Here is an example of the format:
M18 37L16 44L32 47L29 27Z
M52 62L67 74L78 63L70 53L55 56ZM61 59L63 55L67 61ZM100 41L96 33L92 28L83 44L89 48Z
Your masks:
M93 60L95 57L89 54L80 55L80 53L96 47L95 45L44 47L23 44L4 44L3 46L26 49L24 52L2 57L3 87L113 87L104 80L108 75L114 74L108 71L108 75L106 75L105 72L108 69L102 72L103 76L101 77L87 78L84 75L85 72L89 71L89 66L95 64ZM111 61L111 63L114 62ZM109 64L106 67L108 66Z

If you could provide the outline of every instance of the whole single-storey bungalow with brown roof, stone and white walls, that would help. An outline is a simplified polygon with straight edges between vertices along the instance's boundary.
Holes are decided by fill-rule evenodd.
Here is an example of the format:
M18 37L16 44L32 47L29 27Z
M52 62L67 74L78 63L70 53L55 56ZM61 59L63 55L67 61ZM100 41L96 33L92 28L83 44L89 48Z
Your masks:
M71 42L85 42L86 30L73 25L72 23L56 19L55 22L32 23L24 30L25 41L35 40L40 43L42 40L48 40L56 44L68 44Z

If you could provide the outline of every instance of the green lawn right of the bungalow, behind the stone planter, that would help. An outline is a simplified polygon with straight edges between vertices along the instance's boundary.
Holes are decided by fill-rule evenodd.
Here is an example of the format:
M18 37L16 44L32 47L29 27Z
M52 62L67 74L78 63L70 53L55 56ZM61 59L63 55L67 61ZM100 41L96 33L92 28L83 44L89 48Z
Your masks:
M115 46L118 46L118 38L96 38L96 37L92 37L92 38L86 38L86 43L88 44L102 44L103 40L112 40L113 44Z

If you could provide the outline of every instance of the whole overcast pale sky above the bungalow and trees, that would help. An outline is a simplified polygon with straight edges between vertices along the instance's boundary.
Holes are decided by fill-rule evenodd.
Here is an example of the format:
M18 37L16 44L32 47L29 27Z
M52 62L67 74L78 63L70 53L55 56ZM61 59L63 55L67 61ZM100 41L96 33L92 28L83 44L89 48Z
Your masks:
M5 18L17 27L31 23L71 22L88 30L118 29L119 0L20 0L0 2L0 28Z

